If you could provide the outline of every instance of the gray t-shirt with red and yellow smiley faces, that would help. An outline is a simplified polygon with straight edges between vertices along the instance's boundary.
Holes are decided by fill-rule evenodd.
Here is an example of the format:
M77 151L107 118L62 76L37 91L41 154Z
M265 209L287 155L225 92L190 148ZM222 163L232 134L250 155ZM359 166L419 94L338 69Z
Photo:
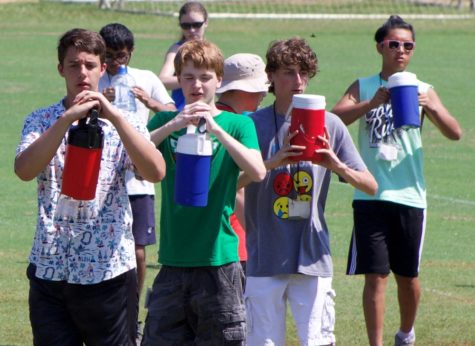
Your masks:
M256 125L262 156L267 160L282 145L290 120L275 114L273 106L253 113L251 118ZM364 170L366 167L342 121L326 112L325 123L331 146L340 160L353 169ZM330 241L324 218L330 179L331 172L326 168L299 161L269 171L262 182L246 187L247 275L332 276ZM293 215L293 210L306 208L308 217Z

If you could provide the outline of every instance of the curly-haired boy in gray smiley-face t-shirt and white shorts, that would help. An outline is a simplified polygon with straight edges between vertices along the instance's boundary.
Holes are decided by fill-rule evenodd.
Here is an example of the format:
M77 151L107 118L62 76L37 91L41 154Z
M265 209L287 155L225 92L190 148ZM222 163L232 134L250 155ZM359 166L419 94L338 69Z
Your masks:
M267 175L248 184L245 218L248 261L245 302L250 346L285 344L286 305L290 304L302 345L335 342L332 260L323 211L335 172L351 185L375 193L345 125L326 112L326 134L318 149L321 161L292 161L304 149L290 144L288 110L293 96L304 93L317 71L317 56L300 38L272 42L266 72L273 105L251 115ZM290 214L290 206L298 205Z

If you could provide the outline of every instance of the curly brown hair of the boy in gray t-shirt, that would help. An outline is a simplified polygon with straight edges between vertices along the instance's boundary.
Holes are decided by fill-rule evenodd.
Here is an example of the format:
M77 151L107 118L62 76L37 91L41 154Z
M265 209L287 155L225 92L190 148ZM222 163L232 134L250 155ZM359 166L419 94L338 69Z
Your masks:
M307 41L300 37L288 40L273 41L266 53L266 72L275 72L284 66L297 65L302 71L308 73L309 78L315 77L318 71L317 54L310 48ZM271 83L269 92L274 93Z

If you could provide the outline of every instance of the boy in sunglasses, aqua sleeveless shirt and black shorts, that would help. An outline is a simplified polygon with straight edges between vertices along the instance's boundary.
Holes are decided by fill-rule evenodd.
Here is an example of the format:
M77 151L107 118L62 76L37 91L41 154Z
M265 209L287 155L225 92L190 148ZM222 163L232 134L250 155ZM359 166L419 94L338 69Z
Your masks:
M410 76L405 70L416 47L414 29L399 16L391 16L376 31L375 41L382 57L381 72L355 81L333 107L345 124L359 120L359 149L379 184L374 196L355 191L347 274L365 275L366 329L370 345L379 346L383 344L385 289L389 273L394 273L400 310L395 345L413 345L427 207L421 131L415 126L396 128L396 107L390 102L387 83L401 73ZM445 137L458 140L461 128L434 89L420 81L416 84L417 117L423 110Z

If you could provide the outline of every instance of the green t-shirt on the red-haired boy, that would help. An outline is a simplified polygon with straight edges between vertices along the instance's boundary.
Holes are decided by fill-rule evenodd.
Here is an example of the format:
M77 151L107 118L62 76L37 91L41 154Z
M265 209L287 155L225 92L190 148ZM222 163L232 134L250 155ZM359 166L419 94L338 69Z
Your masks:
M177 112L157 113L149 122L153 131L173 119ZM259 150L256 129L249 117L221 112L214 120L229 135L244 146ZM229 217L234 210L239 167L224 146L211 135L211 161L208 205L186 207L175 203L175 153L179 136L186 129L172 133L158 149L167 169L161 183L161 218L159 262L175 267L219 266L236 262L238 237Z

